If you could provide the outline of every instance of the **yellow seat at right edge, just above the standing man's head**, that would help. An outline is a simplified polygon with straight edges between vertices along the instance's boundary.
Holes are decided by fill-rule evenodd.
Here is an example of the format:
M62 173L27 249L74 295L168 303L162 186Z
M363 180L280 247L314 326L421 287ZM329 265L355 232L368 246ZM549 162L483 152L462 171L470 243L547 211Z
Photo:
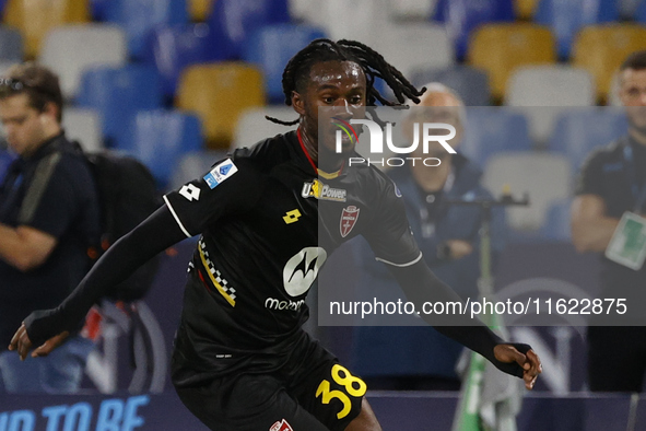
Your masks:
M646 27L643 25L595 25L585 27L576 37L572 62L595 77L598 96L604 101L614 72L629 54L641 49L646 49Z

